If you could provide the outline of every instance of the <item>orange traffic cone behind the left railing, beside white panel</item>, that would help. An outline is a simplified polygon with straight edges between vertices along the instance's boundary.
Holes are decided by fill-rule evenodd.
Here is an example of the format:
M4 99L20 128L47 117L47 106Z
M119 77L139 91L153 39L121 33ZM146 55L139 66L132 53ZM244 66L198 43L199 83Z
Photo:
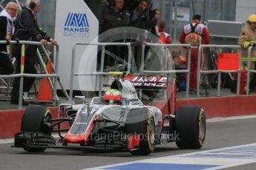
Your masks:
M47 61L46 70L47 70L48 74L53 74L50 60ZM39 93L38 93L36 99L38 101L50 101L50 100L52 100L52 98L53 98L53 91L50 88L50 84L49 84L47 78L42 78L41 86L39 88Z

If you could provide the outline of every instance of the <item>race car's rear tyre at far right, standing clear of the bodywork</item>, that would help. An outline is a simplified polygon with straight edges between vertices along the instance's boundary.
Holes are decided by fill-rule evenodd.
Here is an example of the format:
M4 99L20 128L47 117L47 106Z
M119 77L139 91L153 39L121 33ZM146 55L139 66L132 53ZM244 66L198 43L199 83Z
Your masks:
M200 149L206 138L206 115L200 106L180 106L175 115L176 144L180 149Z

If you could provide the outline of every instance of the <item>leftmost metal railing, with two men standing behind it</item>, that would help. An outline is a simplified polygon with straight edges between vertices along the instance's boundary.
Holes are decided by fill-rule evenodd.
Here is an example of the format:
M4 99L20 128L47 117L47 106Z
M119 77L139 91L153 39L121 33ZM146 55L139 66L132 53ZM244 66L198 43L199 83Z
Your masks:
M10 44L18 44L17 41L10 41ZM7 41L0 41L0 44L7 44ZM29 44L29 45L36 45L36 46L43 46L41 42L34 42L34 41L19 41L19 44ZM48 43L50 45L50 43ZM25 56L26 57L26 56ZM35 56L36 57L36 56ZM19 82L19 106L18 108L22 108L22 95L23 95L23 82L24 77L30 78L54 78L53 79L53 105L56 105L56 84L58 79L58 64L59 64L59 46L56 45L56 61L55 61L55 74L13 74L13 75L0 75L0 78L20 78Z

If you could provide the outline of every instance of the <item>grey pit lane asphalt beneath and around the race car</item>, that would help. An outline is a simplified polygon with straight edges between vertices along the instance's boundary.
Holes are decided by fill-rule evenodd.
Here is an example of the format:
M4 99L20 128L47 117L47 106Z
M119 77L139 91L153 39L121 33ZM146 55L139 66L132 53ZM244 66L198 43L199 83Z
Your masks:
M47 149L44 153L33 154L23 149L10 148L13 143L0 145L0 169L86 169L125 163L154 157L170 156L209 149L219 149L248 143L256 143L256 118L225 120L206 124L206 141L203 149L181 150L175 143L156 146L149 156L132 156L129 152L85 152L67 149ZM227 170L255 169L256 163L232 167Z

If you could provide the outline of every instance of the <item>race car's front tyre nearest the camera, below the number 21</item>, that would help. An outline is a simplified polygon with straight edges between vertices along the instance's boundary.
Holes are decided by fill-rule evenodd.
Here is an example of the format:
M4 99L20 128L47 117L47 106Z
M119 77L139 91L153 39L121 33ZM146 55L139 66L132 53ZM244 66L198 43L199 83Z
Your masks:
M154 151L155 124L149 109L131 110L128 113L128 123L125 124L125 129L128 134L140 134L139 149L131 150L131 154L148 155Z

